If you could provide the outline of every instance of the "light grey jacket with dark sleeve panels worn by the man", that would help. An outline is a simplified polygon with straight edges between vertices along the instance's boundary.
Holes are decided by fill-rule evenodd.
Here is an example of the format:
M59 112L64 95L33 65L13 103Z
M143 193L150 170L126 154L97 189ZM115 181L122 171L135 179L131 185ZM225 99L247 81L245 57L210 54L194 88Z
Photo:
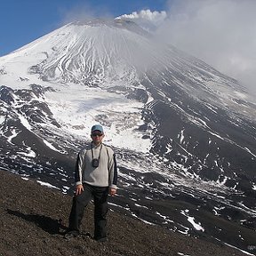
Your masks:
M99 159L99 166L92 166ZM96 187L117 188L117 168L114 151L104 144L85 146L76 159L76 185L87 183Z

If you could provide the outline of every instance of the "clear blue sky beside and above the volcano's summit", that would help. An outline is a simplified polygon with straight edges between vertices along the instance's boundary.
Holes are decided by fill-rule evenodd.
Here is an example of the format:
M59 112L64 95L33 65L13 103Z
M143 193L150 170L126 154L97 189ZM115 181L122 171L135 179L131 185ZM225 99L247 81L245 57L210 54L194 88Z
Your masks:
M0 56L60 28L75 12L93 16L163 11L167 0L8 0L1 1Z

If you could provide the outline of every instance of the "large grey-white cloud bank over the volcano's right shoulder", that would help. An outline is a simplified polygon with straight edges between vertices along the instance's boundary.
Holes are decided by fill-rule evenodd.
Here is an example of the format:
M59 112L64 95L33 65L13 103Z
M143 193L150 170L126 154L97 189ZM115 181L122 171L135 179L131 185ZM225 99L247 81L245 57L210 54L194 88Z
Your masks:
M156 36L256 92L256 1L172 0Z

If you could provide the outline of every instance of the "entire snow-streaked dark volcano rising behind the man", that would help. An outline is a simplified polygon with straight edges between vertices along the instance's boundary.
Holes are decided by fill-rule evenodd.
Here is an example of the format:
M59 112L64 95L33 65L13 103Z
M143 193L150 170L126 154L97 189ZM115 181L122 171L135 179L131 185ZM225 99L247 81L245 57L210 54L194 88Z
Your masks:
M256 103L235 79L119 19L70 23L0 58L0 84L4 169L69 193L100 123L118 157L116 211L248 247ZM236 223L229 237L214 215Z

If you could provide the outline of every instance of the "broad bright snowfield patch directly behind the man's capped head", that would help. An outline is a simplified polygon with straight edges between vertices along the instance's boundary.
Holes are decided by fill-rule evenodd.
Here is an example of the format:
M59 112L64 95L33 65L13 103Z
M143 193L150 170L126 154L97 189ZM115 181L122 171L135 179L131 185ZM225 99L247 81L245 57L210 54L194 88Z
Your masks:
M151 148L151 141L142 139L144 133L137 131L144 124L142 103L127 100L122 94L79 84L56 88L57 92L45 93L45 100L65 132L91 140L92 125L100 123L108 145L144 153Z

